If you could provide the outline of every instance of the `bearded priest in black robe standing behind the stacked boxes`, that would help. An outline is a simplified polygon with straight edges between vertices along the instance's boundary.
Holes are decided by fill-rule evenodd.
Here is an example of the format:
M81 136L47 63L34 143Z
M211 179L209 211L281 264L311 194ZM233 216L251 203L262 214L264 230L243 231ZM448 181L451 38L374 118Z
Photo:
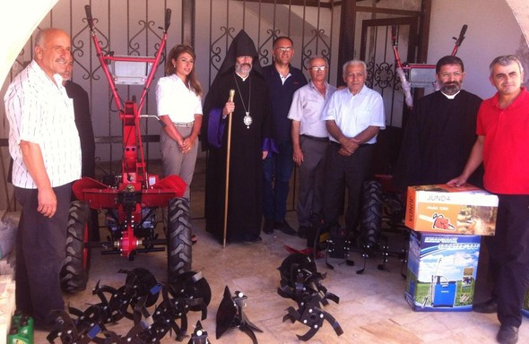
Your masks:
M436 65L437 90L413 107L404 130L393 184L405 191L410 185L445 184L464 169L476 141L476 118L481 98L462 89L464 64L444 56ZM478 168L469 183L482 185Z

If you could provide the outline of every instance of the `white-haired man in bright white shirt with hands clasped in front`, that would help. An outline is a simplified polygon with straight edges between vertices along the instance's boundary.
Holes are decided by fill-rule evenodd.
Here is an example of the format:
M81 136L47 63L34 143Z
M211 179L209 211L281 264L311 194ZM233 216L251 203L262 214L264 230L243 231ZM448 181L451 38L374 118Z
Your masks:
M386 127L380 94L366 86L366 64L351 60L343 64L347 88L337 90L327 102L322 119L330 144L325 158L324 220L327 228L338 226L338 217L347 187L345 227L353 243L360 238L360 193L371 168L373 144ZM365 244L365 243L362 243Z

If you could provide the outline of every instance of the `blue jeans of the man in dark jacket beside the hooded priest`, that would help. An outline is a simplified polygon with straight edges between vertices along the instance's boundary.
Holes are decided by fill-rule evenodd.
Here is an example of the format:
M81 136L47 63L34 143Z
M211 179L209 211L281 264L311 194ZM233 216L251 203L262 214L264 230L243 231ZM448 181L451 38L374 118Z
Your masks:
M268 154L263 163L263 215L281 221L287 213L287 196L294 161L291 142L278 145L279 153Z

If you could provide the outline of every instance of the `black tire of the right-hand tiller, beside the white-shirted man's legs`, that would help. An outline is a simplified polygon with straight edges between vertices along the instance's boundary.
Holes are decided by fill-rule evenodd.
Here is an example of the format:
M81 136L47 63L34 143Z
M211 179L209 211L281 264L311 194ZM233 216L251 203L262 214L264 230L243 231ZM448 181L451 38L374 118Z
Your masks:
M362 218L360 228L364 245L376 245L382 226L382 185L368 180L362 191Z

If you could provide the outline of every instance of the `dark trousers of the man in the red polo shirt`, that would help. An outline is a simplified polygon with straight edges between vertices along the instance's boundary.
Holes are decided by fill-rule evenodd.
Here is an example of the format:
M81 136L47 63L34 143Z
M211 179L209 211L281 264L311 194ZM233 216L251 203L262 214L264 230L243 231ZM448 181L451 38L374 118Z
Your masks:
M529 195L499 195L496 234L486 243L499 323L519 327L529 287Z

